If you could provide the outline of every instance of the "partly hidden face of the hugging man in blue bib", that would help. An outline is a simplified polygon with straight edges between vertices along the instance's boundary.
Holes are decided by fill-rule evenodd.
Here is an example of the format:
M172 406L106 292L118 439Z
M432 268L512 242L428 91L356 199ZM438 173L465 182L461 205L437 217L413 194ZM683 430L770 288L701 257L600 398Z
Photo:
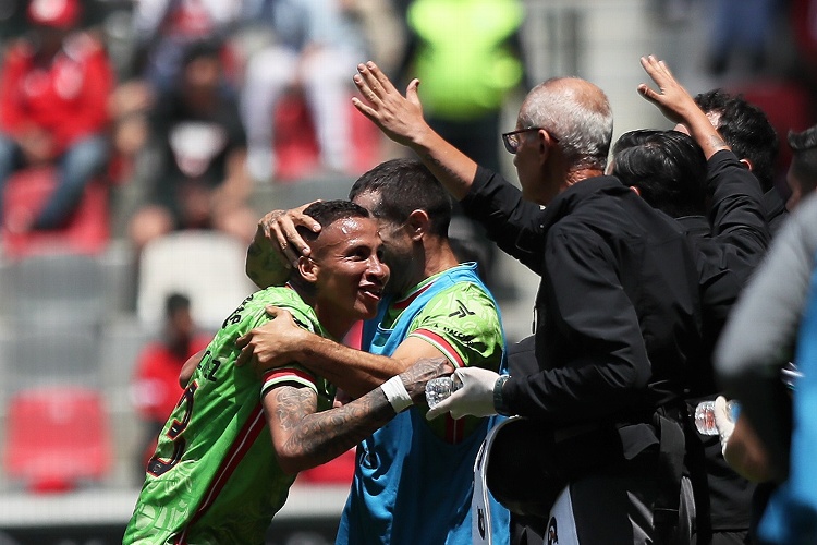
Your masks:
M380 204L380 197L373 192L366 192L357 195L354 203L374 213ZM395 223L385 218L376 218L376 221L380 240L383 243L383 261L391 270L391 280L387 284L387 292L400 294L412 287L412 238L405 223Z

